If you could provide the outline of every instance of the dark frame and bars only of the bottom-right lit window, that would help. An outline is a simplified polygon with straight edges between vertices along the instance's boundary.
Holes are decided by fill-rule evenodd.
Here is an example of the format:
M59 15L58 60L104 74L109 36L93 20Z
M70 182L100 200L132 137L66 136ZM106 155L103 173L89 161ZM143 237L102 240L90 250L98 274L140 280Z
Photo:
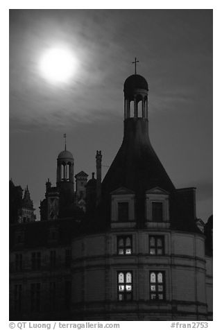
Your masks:
M155 274L155 282L151 281L151 274ZM158 275L162 274L162 282L158 281ZM151 286L155 286L155 290L151 289ZM158 287L162 286L162 290L158 290ZM164 270L150 270L149 272L149 291L150 291L150 300L155 302L164 302L166 300L166 281L165 281L165 271ZM152 295L155 295L155 298L152 298ZM162 295L162 299L160 296Z

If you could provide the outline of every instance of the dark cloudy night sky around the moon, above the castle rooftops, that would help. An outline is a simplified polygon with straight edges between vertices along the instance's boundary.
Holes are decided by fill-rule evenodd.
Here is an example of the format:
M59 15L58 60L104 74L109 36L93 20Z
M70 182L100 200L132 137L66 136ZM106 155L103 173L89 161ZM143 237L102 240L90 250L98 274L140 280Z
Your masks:
M39 62L58 44L78 66L52 85ZM75 174L95 172L96 150L112 163L135 56L153 148L176 188L196 186L198 218L212 214L212 10L10 10L10 177L35 208L47 178L56 184L65 132Z

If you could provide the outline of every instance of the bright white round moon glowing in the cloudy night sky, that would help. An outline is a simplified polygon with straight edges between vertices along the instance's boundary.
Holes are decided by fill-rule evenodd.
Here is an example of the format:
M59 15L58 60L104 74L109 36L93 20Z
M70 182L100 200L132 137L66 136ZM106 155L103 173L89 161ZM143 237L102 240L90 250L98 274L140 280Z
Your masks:
M69 83L75 69L76 58L69 49L49 49L40 59L40 72L51 83Z

